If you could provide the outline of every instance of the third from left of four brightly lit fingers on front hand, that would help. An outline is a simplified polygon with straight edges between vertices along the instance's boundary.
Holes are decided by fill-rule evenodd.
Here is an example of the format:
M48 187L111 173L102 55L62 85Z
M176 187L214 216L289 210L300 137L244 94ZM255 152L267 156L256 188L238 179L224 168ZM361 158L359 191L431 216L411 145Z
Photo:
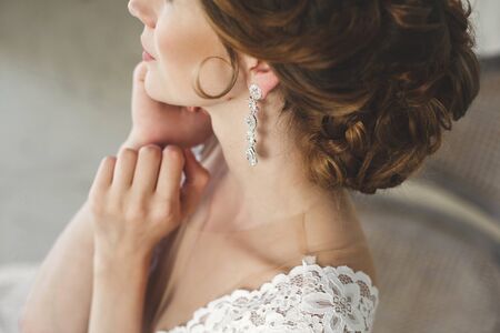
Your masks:
M151 194L157 185L162 150L154 144L141 147L133 173L132 189L139 194Z

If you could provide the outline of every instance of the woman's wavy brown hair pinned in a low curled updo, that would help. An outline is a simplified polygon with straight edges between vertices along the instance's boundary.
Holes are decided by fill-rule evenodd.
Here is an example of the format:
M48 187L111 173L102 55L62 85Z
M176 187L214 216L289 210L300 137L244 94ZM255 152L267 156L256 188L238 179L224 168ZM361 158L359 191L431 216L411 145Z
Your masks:
M279 78L281 114L324 189L400 184L479 92L468 0L200 1L234 70L242 52Z

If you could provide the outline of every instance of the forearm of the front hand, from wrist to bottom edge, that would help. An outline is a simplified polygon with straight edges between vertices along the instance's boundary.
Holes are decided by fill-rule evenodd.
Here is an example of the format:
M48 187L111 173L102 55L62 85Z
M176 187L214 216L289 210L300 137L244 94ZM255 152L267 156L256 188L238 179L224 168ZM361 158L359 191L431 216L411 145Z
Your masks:
M89 333L140 333L150 255L112 260L96 252Z

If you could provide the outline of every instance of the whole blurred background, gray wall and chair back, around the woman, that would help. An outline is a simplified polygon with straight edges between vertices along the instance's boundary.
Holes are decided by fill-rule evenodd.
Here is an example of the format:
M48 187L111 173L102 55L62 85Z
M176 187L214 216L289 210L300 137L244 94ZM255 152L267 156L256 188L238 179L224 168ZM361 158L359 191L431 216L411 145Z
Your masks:
M401 186L353 194L373 251L374 332L500 332L500 1L472 20L481 91ZM0 332L131 127L142 24L118 0L0 0Z

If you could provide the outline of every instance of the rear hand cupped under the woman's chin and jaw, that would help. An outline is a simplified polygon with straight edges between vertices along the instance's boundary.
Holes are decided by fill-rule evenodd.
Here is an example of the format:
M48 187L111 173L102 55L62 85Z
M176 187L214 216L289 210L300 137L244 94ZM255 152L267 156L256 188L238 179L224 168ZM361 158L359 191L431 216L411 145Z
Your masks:
M132 130L122 147L139 149L146 144L176 144L192 148L213 134L210 115L203 109L189 111L179 105L151 99L144 90L148 65L139 62L133 70Z

